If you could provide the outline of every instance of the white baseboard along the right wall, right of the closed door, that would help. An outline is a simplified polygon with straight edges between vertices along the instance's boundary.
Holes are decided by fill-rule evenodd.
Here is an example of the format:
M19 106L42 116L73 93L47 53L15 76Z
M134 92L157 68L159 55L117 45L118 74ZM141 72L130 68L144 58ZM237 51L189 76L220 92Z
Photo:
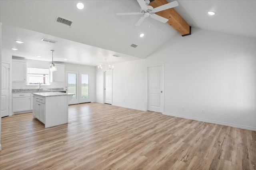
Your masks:
M183 116L183 115L176 115L176 114L172 114L172 113L163 113L163 115L180 117L180 118L184 118L184 119L192 119L192 120L195 120L195 121L214 123L214 124L218 124L218 125L224 125L224 126L229 126L229 127L236 127L236 128L242 128L242 129L256 131L256 128L254 128L254 127L246 127L246 126L242 126L242 125L235 125L235 124L232 124L232 123L224 123L224 122L219 122L219 121L211 121L211 120L207 120L207 119L200 119L200 118L196 118L196 117L188 117L188 116Z

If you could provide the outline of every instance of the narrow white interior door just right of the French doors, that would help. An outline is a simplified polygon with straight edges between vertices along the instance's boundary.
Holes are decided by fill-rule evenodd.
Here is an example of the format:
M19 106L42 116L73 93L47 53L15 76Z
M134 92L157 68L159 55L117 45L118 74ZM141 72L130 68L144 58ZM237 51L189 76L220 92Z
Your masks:
M112 104L112 72L105 72L105 103Z

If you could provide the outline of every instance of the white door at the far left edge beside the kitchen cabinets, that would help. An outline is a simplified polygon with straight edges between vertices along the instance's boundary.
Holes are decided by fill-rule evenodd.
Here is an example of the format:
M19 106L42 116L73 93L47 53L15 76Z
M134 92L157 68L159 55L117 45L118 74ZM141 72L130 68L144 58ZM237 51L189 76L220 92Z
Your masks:
M1 117L9 116L9 78L10 65L7 63L2 63Z

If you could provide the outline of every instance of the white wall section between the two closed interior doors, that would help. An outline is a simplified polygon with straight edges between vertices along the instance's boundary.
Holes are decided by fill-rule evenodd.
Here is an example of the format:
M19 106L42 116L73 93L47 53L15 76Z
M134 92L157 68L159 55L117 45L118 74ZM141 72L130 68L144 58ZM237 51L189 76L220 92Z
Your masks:
M145 60L114 65L112 105L146 111Z

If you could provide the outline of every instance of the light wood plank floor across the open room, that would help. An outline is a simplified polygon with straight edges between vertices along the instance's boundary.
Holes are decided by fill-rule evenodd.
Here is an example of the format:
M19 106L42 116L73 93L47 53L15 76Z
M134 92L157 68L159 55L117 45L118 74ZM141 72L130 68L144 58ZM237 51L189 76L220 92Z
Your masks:
M0 169L255 170L256 132L107 104L69 106L44 128L32 113L2 118Z

